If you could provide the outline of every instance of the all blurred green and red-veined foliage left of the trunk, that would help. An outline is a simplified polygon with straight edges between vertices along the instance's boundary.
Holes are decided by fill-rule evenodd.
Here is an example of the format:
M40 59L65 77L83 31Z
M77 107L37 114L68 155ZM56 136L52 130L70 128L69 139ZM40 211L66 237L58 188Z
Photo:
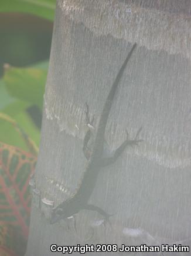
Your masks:
M24 255L56 0L0 4L0 254Z

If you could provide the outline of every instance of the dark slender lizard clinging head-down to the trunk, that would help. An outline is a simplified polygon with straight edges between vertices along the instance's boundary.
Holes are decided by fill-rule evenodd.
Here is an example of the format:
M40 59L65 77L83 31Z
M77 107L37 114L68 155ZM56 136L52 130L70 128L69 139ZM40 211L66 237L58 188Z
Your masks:
M115 150L115 153L112 155L112 157L107 157L107 158L103 157L105 128L107 125L108 116L110 114L112 101L114 99L115 92L118 88L118 84L120 83L122 74L124 73L125 67L129 59L131 58L132 52L134 51L136 46L137 46L136 43L132 46L131 51L127 55L127 58L122 64L120 71L118 71L118 74L112 84L108 97L105 101L103 111L100 116L100 120L98 122L98 128L94 138L94 144L93 144L93 148L91 150L90 155L85 153L85 149L87 148L88 141L91 137L90 127L92 127L94 117L90 121L90 119L88 118L88 105L86 104L87 105L86 118L88 120L88 125L89 125L87 134L84 137L84 145L83 145L84 155L88 160L86 171L84 171L83 179L76 193L72 197L63 201L57 207L53 208L52 215L50 218L51 224L54 224L57 221L60 221L62 219L69 218L72 215L77 214L80 210L97 211L99 214L103 215L105 220L108 220L108 218L111 216L110 214L102 210L100 207L97 207L92 204L88 204L88 200L96 185L98 173L100 172L101 168L115 162L117 158L122 154L124 149L127 147L127 145L138 145L138 142L142 141L141 139L137 139L139 132L141 131L141 128L138 130L134 140L128 139L128 132L126 130L127 139L120 145L120 147L118 147Z

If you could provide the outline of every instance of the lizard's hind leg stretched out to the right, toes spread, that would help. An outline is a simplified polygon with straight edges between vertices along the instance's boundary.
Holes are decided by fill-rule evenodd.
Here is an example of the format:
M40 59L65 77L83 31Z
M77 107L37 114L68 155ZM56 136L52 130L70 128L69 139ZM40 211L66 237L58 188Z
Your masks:
M103 158L102 161L101 161L101 167L105 167L107 165L110 165L112 163L114 163L118 157L120 157L120 155L122 154L122 152L125 150L125 148L128 146L128 145L138 145L139 142L143 141L142 139L137 139L139 133L141 132L141 128L139 128L136 136L135 136L135 139L133 140L129 140L128 139L128 132L126 131L127 133L127 139L121 144L120 147L118 147L116 150L115 150L115 153L112 157L108 157L108 158Z

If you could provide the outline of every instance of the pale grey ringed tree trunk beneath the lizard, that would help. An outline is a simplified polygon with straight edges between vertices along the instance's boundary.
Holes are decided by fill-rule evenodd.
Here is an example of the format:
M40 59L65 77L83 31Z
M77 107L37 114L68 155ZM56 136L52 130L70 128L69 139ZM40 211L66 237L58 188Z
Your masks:
M26 256L52 255L51 244L191 244L190 10L186 0L57 0ZM50 201L69 198L86 170L85 103L97 128L135 42L105 139L114 150L125 129L133 139L142 126L144 141L100 171L89 201L112 214L111 226L87 210L50 225Z

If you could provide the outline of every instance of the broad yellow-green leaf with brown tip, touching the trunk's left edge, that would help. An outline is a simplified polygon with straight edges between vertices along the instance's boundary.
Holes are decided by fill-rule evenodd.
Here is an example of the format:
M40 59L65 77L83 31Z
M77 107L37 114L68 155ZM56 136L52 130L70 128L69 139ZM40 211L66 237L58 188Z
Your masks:
M9 94L42 109L47 71L38 68L5 69L4 82Z

